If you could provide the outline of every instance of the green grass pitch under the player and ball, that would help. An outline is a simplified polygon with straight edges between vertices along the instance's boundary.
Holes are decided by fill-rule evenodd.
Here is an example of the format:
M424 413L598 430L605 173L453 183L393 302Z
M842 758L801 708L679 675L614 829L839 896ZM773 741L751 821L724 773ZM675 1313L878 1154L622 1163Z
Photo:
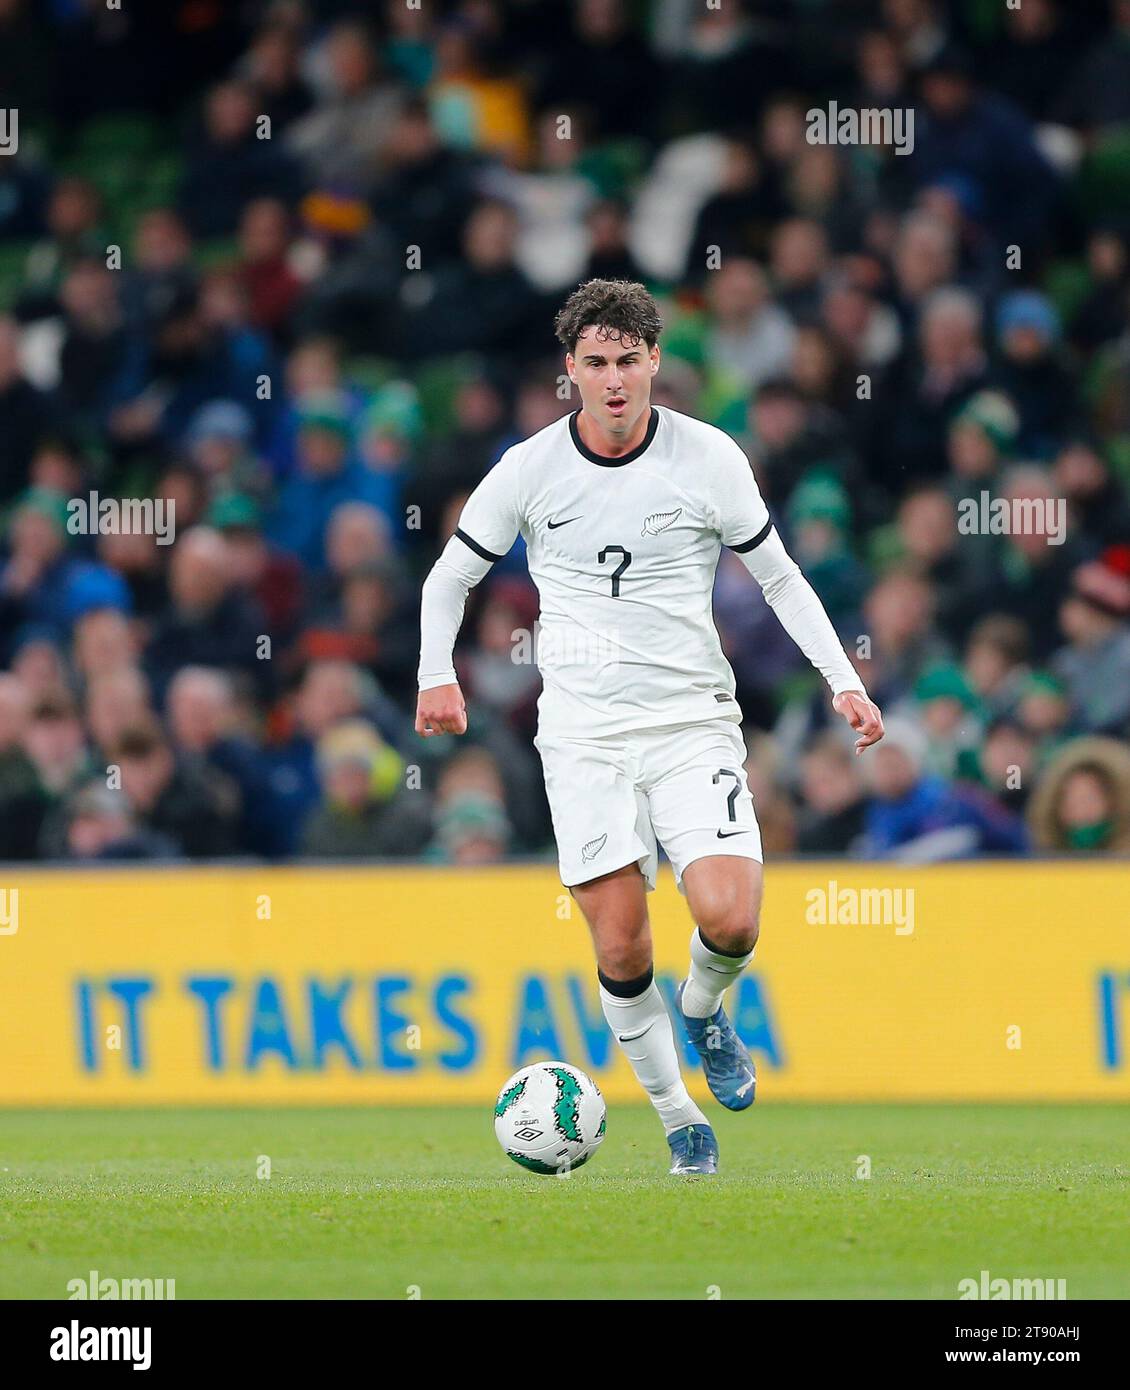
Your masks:
M988 1269L1130 1298L1124 1106L710 1119L723 1173L688 1180L644 1106L567 1179L509 1162L489 1106L0 1112L0 1297L97 1269L178 1300L952 1300Z

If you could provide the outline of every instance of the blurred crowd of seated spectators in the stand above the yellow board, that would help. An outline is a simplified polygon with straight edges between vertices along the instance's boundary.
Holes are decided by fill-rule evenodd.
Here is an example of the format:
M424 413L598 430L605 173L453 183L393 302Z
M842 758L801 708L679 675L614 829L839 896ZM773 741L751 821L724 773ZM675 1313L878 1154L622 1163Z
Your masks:
M593 275L888 719L855 759L723 552L767 851L1127 852L1130 0L0 0L0 859L552 856L521 542L466 738L417 605Z

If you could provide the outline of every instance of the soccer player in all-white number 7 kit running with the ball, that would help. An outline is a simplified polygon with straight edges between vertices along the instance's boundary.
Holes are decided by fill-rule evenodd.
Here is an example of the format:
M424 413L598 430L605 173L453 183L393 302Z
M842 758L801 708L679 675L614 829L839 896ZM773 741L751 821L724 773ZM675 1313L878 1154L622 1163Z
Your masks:
M659 842L695 920L678 1006L724 1106L753 1102L753 1059L723 1009L758 940L762 838L734 673L712 614L728 546L828 682L862 752L883 737L824 609L721 430L650 403L655 300L591 279L556 318L581 409L507 449L424 582L417 733L461 734L452 664L467 594L521 534L541 596L538 749L562 883L585 915L609 1027L663 1120L671 1173L717 1172L653 980L646 892Z

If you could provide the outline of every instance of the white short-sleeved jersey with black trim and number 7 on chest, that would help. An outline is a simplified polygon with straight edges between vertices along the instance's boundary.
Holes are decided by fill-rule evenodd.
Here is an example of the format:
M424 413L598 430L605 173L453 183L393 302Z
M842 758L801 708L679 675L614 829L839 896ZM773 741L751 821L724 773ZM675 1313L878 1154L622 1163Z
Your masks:
M652 406L642 443L620 459L592 453L575 414L507 449L445 557L461 545L498 560L521 534L541 595L539 731L602 737L741 720L713 620L714 570L723 545L752 550L770 530L738 445Z

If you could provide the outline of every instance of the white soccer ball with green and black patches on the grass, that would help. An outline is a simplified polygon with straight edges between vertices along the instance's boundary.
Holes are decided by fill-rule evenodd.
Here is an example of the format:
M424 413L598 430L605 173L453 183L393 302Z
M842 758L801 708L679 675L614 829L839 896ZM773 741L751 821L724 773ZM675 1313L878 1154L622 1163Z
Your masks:
M587 1163L605 1137L605 1097L567 1062L514 1072L495 1101L495 1134L531 1173L560 1175Z

